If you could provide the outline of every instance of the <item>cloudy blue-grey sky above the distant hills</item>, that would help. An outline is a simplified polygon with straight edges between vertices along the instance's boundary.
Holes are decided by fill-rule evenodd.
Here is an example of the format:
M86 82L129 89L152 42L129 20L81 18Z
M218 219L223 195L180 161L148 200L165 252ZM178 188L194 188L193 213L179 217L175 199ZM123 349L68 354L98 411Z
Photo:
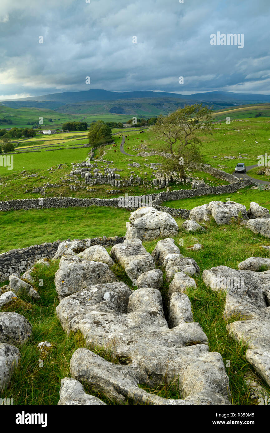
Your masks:
M89 89L270 94L269 18L269 0L1 0L0 99ZM218 32L239 34L243 47L218 45Z

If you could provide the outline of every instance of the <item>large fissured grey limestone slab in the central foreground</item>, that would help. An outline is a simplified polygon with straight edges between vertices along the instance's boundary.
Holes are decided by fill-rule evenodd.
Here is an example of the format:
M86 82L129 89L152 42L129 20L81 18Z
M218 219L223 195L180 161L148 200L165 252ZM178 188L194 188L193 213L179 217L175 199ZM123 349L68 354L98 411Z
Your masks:
M116 297L120 284L123 283L115 284ZM98 286L95 288L97 293ZM78 298L81 293L69 298ZM88 296L85 294L85 302ZM105 392L120 403L124 403L128 396L137 403L229 404L228 377L221 356L209 352L207 337L198 323L182 320L178 326L169 329L158 290L140 288L132 292L125 313L120 313L115 299L114 308L109 300L103 300L85 309L85 313L78 303L76 315L74 310L70 316L65 306L67 303L68 297L57 307L58 316L62 310L59 319L62 325L65 323L66 329L79 329L87 345L95 343L108 347L115 356L126 359L126 365L116 365L88 349L78 349L71 360L75 379L87 381L92 388ZM124 303L121 305L124 307ZM187 303L183 305L183 317L187 317ZM172 320L179 317L180 303L178 306L176 312L172 311ZM63 322L63 315L68 317L67 321ZM160 401L137 387L138 383L146 381L150 386L164 380L170 383L177 376L183 401Z

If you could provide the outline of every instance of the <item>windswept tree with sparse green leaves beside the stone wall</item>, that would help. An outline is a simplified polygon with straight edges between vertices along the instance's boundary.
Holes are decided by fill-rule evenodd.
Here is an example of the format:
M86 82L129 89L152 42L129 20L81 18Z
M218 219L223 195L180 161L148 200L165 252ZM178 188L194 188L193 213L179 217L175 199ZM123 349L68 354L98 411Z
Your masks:
M179 171L184 178L184 169L190 163L202 162L198 135L211 134L212 110L202 104L186 105L184 108L160 115L153 126L153 132L164 141L162 150L171 158L164 162L166 171Z

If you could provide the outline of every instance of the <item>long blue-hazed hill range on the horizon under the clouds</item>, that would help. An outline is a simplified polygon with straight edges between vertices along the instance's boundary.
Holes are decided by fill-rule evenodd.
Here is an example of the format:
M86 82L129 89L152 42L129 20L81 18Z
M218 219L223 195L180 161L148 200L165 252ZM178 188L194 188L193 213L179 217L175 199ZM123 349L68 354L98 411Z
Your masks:
M186 104L202 103L214 110L239 105L270 103L270 95L240 94L213 91L182 95L169 92L134 91L111 92L90 89L79 92L63 92L13 100L2 100L0 106L23 109L54 110L69 115L118 114L150 118L160 113L168 114Z

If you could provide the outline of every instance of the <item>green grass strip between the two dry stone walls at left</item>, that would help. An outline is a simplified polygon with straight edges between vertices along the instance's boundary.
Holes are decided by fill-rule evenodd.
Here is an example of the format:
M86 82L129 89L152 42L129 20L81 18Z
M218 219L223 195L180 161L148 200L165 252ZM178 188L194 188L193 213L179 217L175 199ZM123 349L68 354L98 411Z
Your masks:
M130 212L114 207L68 207L1 212L0 253L57 239L124 236Z

